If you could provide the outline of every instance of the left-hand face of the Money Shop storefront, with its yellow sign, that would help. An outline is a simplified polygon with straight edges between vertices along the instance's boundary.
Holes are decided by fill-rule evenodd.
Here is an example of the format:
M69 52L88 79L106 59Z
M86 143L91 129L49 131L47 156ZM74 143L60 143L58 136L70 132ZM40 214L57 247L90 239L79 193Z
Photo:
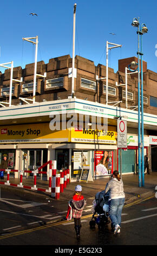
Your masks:
M8 168L34 170L55 160L52 143L67 141L68 131L53 132L49 123L0 126L0 161L6 156ZM48 168L44 167L43 171ZM17 173L15 178L18 178Z

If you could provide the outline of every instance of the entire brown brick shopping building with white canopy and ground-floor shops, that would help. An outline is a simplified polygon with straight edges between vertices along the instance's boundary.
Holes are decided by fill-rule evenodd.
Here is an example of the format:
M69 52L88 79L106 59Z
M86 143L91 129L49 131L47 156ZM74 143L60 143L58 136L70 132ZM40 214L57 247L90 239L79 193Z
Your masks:
M0 74L0 161L8 168L34 170L56 160L57 170L69 168L70 180L79 180L83 166L93 178L120 169L117 119L127 120L127 148L122 149L122 173L138 167L138 74L127 76L125 68L136 57L120 59L119 70L75 57L74 95L71 96L69 55L37 62L36 95L32 103L34 63L13 70L11 106L10 70ZM42 75L42 76L40 76ZM44 76L44 77L43 77ZM21 79L22 78L22 79ZM22 81L22 82L19 82ZM119 85L124 84L123 86ZM157 75L143 61L143 123L145 154L149 168L157 171ZM126 96L127 90L127 96ZM48 167L49 168L49 167ZM17 174L15 174L17 177Z

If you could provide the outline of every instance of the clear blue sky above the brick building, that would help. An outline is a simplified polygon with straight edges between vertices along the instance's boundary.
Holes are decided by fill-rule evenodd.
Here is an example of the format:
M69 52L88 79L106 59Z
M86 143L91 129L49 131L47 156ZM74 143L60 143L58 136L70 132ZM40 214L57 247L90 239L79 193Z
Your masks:
M75 55L106 65L106 41L122 44L109 51L109 66L116 72L118 59L137 56L137 29L131 26L134 17L146 23L143 35L143 60L147 68L157 72L156 0L15 0L1 3L0 63L14 61L25 67L34 62L35 46L23 37L38 35L38 61L73 52L73 8L76 8ZM38 16L31 16L37 13ZM109 33L115 33L112 35ZM156 54L157 55L157 54ZM0 68L4 72L3 68Z

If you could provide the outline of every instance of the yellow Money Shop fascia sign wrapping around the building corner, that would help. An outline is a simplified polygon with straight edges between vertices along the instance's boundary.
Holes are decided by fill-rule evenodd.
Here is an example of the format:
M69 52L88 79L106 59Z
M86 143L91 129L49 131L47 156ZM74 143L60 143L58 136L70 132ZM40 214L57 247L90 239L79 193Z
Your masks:
M108 130L70 128L50 130L49 123L0 126L0 143L104 143L116 144L116 127Z

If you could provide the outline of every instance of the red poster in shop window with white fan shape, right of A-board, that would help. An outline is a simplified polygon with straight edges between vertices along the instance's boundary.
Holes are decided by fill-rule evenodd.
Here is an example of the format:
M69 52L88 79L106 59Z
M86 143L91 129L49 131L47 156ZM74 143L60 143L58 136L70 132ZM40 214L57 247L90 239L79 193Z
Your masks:
M113 172L113 151L95 151L95 175L102 176Z

